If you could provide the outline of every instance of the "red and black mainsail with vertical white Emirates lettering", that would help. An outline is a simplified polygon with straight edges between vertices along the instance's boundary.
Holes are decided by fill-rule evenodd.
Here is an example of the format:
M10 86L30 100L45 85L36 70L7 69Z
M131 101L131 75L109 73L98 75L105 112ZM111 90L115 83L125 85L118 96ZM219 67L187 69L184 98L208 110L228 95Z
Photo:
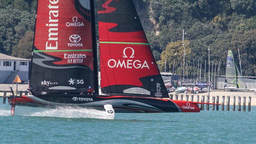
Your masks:
M92 27L90 0L38 1L33 95L93 92Z

